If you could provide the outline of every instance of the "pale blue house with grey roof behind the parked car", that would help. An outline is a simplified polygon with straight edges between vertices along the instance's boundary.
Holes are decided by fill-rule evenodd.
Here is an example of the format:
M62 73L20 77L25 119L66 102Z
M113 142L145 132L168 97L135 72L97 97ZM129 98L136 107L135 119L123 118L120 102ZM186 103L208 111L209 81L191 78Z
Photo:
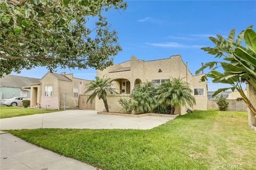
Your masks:
M4 75L0 78L0 99L30 96L30 84L39 83L40 79L18 75Z

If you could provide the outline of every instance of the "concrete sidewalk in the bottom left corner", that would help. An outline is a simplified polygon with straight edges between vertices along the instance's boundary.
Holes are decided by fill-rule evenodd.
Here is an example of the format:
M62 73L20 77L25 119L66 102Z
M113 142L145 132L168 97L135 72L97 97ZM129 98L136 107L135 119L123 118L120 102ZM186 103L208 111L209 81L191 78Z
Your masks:
M1 170L92 170L97 169L78 160L67 158L37 147L10 133L1 132Z

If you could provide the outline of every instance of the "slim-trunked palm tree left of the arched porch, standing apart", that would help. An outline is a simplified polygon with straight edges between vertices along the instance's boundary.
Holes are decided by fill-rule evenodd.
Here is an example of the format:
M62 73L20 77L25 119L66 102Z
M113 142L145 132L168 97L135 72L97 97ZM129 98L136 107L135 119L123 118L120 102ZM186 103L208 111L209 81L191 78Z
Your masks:
M116 89L111 88L110 86L111 79L110 78L99 78L95 77L95 80L91 81L90 83L86 84L85 87L85 94L92 92L90 97L87 99L87 102L92 102L95 97L98 97L99 99L103 100L103 103L105 105L106 111L108 110L108 101L107 101L107 95L108 94L118 94L116 92Z

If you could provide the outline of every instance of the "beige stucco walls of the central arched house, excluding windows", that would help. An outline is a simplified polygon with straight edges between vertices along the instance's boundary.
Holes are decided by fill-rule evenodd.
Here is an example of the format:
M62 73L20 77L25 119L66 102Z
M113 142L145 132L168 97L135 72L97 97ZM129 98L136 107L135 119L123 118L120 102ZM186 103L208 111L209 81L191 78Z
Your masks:
M131 67L130 71L114 72L116 69L122 67ZM162 72L158 72L161 69ZM108 67L103 71L97 70L97 76L102 78L103 76L111 78L112 80L126 79L131 83L131 91L134 88L134 83L136 79L140 79L142 82L152 81L156 79L171 79L171 78L183 78L191 84L191 89L194 88L204 88L204 96L195 96L197 105L193 109L207 109L207 84L206 82L200 82L202 75L193 76L187 69L185 63L181 60L179 55L171 56L163 60L155 61L143 61L137 60L135 56L131 56L131 60L116 64ZM122 83L122 82L120 82ZM125 87L121 87L125 89ZM114 97L115 98L115 97ZM109 98L108 104L110 112L120 112L117 99ZM114 102L115 104L112 104ZM97 111L103 111L105 109L103 102L99 99L95 101L95 109ZM177 109L181 114L186 113L186 108Z

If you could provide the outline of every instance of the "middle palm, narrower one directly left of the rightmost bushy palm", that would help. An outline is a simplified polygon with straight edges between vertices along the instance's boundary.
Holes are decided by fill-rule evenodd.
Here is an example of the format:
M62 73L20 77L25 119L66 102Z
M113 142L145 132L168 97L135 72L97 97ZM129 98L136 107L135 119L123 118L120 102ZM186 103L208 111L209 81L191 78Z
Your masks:
M141 86L136 86L131 97L137 101L135 109L141 113L149 113L155 108L156 88L153 82L145 82Z

